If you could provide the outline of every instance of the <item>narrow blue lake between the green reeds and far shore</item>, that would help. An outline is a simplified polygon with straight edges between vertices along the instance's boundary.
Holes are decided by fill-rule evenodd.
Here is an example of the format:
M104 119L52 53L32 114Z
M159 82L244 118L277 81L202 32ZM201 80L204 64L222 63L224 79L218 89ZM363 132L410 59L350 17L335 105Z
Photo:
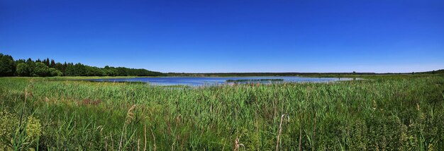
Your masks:
M91 79L90 81L108 82L143 82L151 85L221 85L230 84L226 80L260 80L282 79L283 81L249 81L241 83L327 83L338 80L353 80L353 78L308 78L297 76L250 76L250 77L152 77L152 78L107 78Z

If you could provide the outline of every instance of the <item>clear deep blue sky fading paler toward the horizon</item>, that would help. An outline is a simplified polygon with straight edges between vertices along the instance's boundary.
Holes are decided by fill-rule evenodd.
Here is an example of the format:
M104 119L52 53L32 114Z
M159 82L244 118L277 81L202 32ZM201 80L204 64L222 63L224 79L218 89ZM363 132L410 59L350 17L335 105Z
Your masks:
M0 0L0 53L162 72L444 68L444 1Z

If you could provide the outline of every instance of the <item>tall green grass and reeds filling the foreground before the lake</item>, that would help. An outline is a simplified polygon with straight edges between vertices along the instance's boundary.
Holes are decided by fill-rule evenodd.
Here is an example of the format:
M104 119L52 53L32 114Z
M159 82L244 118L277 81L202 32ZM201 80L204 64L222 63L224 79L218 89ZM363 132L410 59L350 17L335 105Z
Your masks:
M444 76L212 87L0 78L0 150L442 150Z

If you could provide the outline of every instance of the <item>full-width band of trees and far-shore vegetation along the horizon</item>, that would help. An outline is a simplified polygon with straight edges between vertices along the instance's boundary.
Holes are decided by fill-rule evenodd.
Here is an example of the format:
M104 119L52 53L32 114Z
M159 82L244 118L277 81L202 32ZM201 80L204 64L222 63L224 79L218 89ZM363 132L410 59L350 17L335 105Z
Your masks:
M160 73L157 71L148 71L144 68L125 68L105 66L99 68L87 66L84 64L61 63L53 59L18 59L14 60L12 56L0 53L0 77L156 77L156 76L191 76L191 77L230 77L230 76L304 76L304 77L322 77L322 78L389 78L396 76L427 76L435 74L444 74L444 69L437 71L412 72L412 73Z

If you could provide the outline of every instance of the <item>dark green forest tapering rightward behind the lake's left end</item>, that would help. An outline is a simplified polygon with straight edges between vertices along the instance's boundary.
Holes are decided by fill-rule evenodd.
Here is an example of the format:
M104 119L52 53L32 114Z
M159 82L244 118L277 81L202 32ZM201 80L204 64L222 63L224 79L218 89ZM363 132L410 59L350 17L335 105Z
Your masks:
M0 53L0 76L160 76L164 73L143 68L87 66L84 64L60 63L54 59L18 59Z

